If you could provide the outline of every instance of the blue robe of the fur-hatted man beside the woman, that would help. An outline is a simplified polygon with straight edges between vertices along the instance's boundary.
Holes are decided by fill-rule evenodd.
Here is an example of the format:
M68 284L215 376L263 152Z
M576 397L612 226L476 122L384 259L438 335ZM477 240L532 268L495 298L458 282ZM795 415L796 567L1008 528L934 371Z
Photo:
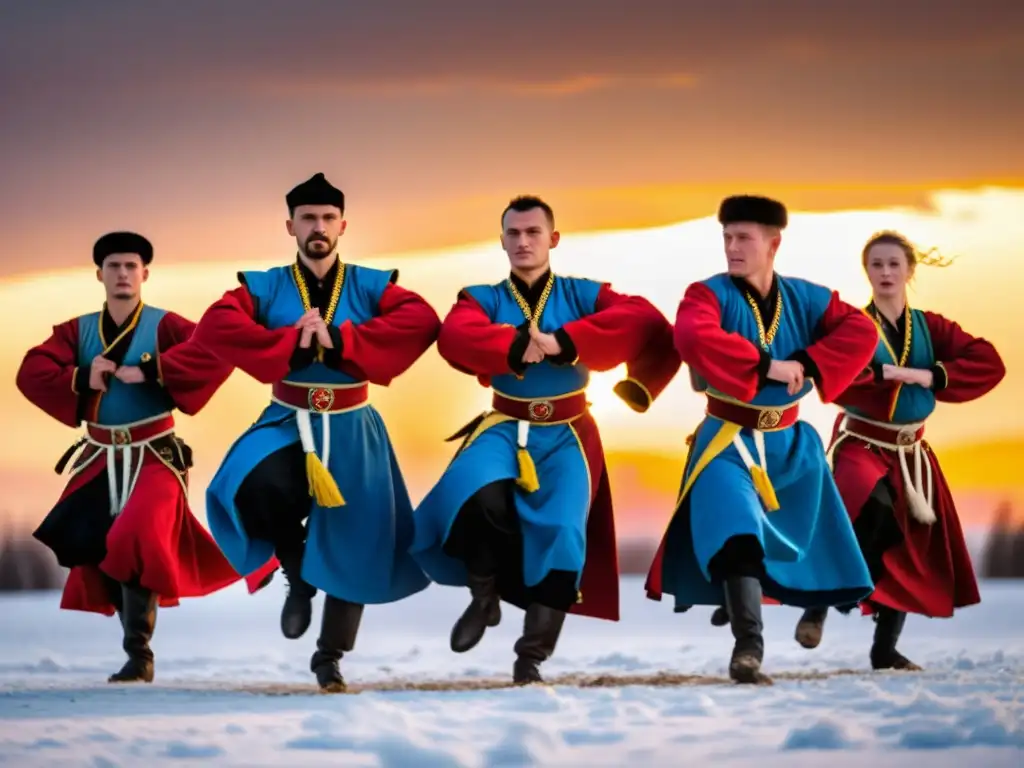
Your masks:
M777 280L782 310L766 351L773 359L785 359L816 341L815 332L833 299L821 286L794 278ZM722 329L760 345L755 312L730 278L718 274L703 285L718 301ZM770 321L764 318L766 329ZM750 404L784 408L813 386L805 380L803 389L791 396L784 385L770 382ZM707 391L731 399L713 387L707 386ZM712 582L709 563L726 541L749 535L764 550L762 584L771 599L806 607L847 604L870 594L867 565L815 429L798 421L763 432L766 469L780 505L771 512L735 445L715 440L725 429L726 422L708 416L694 433L676 513L652 567L652 574L660 569L660 592L675 596L677 609L721 605L722 588ZM757 461L753 431L744 428L739 434Z

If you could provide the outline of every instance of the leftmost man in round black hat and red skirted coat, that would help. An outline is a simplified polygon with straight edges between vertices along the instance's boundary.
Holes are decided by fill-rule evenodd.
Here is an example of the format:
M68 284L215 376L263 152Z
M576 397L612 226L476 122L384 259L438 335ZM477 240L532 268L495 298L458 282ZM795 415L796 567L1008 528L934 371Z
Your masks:
M191 451L172 416L198 413L231 368L182 343L195 324L142 302L145 238L104 234L92 258L102 309L54 326L17 372L33 404L69 427L86 423L57 463L58 474L71 463L71 476L34 536L71 568L61 608L120 615L128 660L110 682L152 682L157 606L240 579L188 509Z

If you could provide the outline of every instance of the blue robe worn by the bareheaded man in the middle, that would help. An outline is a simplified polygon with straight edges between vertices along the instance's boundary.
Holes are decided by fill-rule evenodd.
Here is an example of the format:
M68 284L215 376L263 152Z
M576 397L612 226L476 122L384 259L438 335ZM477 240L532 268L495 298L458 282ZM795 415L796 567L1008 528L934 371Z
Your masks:
M553 333L567 323L593 314L600 283L556 275L538 325ZM520 326L524 312L507 281L472 286L465 292L482 307L492 323ZM557 366L548 360L529 366L519 378L495 376L495 391L514 398L544 399L581 392L590 371L579 361ZM490 413L467 439L437 484L416 510L416 537L411 552L438 584L466 586L466 567L444 550L452 525L463 505L484 485L519 475L516 459L517 422ZM540 488L516 488L515 503L522 532L523 586L536 587L551 571L577 574L577 589L587 559L587 522L593 496L592 478L575 424L530 424L527 451L537 467Z

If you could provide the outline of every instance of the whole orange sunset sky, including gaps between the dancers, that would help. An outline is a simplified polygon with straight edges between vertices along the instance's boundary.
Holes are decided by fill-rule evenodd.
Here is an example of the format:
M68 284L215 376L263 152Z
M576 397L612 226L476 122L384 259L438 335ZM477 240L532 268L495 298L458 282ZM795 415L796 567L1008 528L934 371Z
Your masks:
M0 449L0 479L32 490L5 506L38 516L59 486L51 467L74 434L26 408L14 370L49 326L98 306L95 238L150 237L147 300L198 318L234 269L293 258L284 196L317 171L346 193L345 257L383 255L439 312L463 282L504 274L498 216L522 193L555 207L557 269L670 314L722 267L708 217L725 195L782 198L780 270L858 302L860 244L902 226L963 256L921 275L914 302L992 339L1010 368L991 398L940 411L937 444L1024 439L1021 82L1024 3L1005 1L11 4L0 319L15 331L0 339L0 415L22 439ZM671 497L700 411L684 380L649 418L594 395L606 443L633 452L616 465L624 506ZM415 493L474 415L467 398L485 402L471 385L431 350L375 392ZM417 414L424 386L451 410ZM263 397L237 375L185 421L197 501ZM809 409L819 426L834 413ZM636 479L655 455L660 479Z

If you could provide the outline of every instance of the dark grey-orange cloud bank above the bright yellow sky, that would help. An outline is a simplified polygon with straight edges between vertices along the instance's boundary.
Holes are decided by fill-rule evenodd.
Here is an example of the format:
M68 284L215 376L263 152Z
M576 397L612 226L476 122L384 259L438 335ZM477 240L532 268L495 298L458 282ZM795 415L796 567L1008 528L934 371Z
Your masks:
M272 258L285 191L349 200L353 254L670 223L739 186L804 207L1024 177L1006 0L54 0L0 24L6 273L137 227L162 260Z

